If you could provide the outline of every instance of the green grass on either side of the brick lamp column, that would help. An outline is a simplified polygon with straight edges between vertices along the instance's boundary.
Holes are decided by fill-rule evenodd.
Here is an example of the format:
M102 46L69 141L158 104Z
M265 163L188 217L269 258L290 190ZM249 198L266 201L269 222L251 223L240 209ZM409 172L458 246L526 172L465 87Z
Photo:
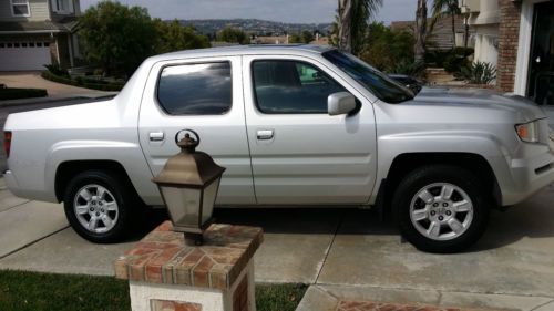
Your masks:
M258 284L257 310L293 311L306 289L304 284ZM0 270L0 310L127 311L131 305L126 280Z

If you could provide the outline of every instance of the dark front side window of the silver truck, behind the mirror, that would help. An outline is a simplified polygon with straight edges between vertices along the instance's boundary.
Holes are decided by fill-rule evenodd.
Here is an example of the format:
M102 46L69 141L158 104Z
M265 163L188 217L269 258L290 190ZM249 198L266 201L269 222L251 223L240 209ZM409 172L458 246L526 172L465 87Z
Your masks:
M327 114L327 97L346 90L311 64L264 60L252 65L258 110L266 114Z

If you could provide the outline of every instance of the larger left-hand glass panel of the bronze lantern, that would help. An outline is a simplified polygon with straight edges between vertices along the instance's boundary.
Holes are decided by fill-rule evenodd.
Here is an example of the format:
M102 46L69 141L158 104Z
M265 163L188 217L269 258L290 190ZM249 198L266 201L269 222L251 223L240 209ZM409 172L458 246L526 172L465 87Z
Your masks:
M173 222L181 227L198 228L201 189L161 187Z

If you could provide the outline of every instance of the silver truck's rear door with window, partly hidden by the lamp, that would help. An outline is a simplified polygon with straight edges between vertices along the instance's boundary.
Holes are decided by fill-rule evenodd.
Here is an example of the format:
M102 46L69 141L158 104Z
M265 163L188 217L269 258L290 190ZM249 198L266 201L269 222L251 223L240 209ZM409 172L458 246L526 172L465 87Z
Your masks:
M239 56L153 66L141 105L138 136L154 176L179 152L175 134L184 128L198 133L198 149L227 168L217 204L255 204Z

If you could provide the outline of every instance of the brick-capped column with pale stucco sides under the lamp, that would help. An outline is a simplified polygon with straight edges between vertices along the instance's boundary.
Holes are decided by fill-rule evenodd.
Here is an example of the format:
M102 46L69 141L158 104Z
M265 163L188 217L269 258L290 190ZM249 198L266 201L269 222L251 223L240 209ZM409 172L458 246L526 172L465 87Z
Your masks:
M203 246L185 246L165 221L115 261L133 311L255 311L253 257L260 228L212 225Z

